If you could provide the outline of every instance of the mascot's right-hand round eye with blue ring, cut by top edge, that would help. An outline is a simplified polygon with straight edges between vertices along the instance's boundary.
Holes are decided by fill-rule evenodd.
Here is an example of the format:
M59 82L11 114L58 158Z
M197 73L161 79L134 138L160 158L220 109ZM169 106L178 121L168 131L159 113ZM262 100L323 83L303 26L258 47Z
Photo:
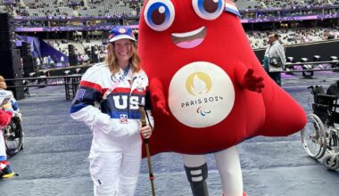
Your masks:
M214 20L224 12L225 0L192 0L196 14L204 20Z

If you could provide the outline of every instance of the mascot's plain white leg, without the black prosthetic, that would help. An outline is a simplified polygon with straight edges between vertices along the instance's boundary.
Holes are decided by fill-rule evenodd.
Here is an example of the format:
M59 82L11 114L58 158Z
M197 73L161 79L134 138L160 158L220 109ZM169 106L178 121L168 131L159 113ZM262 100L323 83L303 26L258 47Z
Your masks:
M243 176L236 147L214 153L225 196L243 196ZM244 195L246 195L244 193Z

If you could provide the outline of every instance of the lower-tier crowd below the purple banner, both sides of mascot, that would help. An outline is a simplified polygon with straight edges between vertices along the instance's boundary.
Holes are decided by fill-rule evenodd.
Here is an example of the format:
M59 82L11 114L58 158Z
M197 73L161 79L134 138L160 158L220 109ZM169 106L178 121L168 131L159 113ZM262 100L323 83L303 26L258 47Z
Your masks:
M334 28L294 28L294 29L275 29L280 35L280 41L283 45L298 45L311 42L326 41L330 39L339 39L339 29ZM265 48L267 46L267 37L271 31L248 30L247 37L253 49ZM136 32L135 32L136 33ZM104 35L88 37L76 37L73 40L48 39L45 42L60 52L69 55L68 45L75 45L75 53L78 56L79 64L91 61L92 53L95 53L95 59L103 61L105 56L105 47L107 40ZM49 63L50 64L50 63Z

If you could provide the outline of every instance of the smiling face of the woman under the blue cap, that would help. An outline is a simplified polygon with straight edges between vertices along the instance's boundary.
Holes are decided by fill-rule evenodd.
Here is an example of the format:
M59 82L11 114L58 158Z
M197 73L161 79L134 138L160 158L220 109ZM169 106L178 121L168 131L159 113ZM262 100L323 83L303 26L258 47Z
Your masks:
M132 56L132 43L129 39L115 41L113 49L118 61L129 61Z

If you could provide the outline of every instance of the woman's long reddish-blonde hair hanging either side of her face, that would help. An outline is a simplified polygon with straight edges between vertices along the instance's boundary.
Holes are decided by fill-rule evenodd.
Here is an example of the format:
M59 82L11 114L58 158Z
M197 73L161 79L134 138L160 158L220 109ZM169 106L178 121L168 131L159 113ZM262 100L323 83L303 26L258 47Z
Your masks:
M137 55L137 44L135 41L130 41L132 47L132 56L129 59L129 63L131 65L132 73L136 73L140 70L140 57ZM107 55L105 58L105 62L108 64L111 72L113 74L120 71L120 67L118 65L118 59L114 53L114 42L110 43L106 47Z

